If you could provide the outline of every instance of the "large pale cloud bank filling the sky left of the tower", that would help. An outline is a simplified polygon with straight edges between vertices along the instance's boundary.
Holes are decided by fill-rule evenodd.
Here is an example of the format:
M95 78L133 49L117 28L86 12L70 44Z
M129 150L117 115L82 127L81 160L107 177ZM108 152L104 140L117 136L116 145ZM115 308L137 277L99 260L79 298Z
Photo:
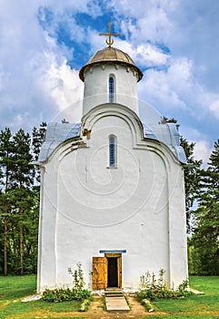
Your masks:
M25 11L25 0L0 4L0 129L32 129L81 98L83 85L66 65L71 49L38 24L43 3L30 2Z

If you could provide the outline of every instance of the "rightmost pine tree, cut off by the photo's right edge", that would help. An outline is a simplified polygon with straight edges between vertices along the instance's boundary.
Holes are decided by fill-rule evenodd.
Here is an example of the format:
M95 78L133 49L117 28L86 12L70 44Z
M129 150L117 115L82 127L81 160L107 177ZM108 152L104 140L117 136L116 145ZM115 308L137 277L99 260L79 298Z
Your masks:
M193 235L198 274L219 274L219 139L207 170L202 170Z

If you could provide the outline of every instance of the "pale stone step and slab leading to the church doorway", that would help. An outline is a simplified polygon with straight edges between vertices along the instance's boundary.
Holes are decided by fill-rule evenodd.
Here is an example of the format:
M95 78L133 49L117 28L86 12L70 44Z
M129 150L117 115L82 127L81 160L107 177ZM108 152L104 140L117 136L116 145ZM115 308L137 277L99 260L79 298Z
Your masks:
M105 291L105 307L109 313L124 314L130 311L121 290Z

